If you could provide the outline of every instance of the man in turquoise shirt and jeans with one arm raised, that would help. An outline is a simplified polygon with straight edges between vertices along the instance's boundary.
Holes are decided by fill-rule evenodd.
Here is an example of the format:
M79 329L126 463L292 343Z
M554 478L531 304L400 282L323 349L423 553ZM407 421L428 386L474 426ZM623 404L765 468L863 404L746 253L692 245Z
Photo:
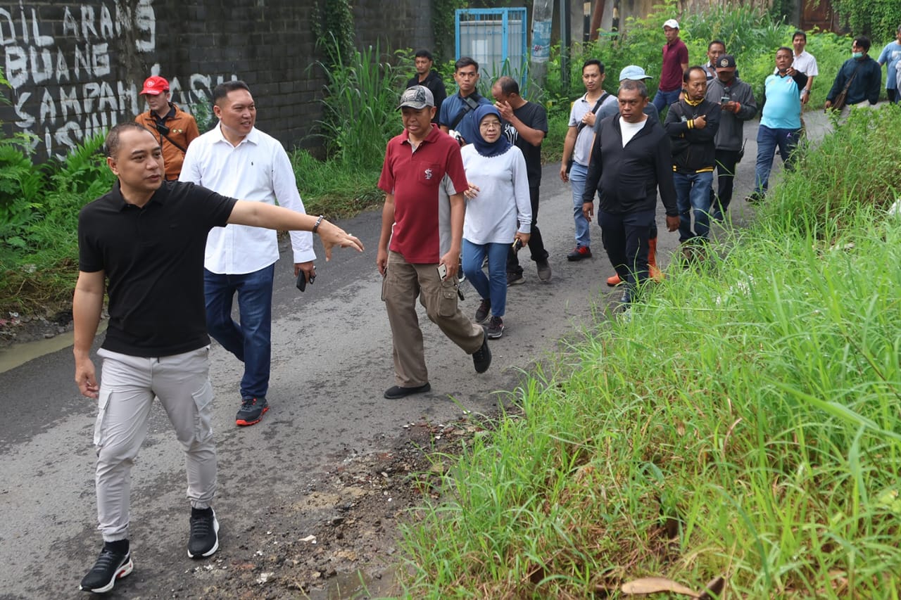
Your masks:
M776 73L763 85L763 109L757 129L757 165L754 191L745 200L751 204L763 201L773 168L776 149L786 168L792 167L792 154L801 134L801 90L807 76L792 67L794 52L787 46L776 50Z

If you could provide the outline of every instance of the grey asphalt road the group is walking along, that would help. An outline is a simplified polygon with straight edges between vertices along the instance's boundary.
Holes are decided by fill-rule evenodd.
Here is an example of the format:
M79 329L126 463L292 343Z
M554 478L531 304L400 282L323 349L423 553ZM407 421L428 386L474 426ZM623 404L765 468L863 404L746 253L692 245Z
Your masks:
M822 115L807 116L822 128ZM745 127L746 158L739 166L732 212L735 223L752 214L742 198L751 190L756 122ZM776 160L776 164L780 164ZM780 167L777 166L778 171ZM277 266L274 296L271 410L263 421L238 429L234 414L241 364L214 343L219 492L215 507L230 543L248 515L277 500L302 498L329 466L351 454L390 447L405 423L447 423L462 411L490 412L509 397L535 361L566 350L564 338L603 318L597 309L618 294L605 286L612 273L592 225L593 259L566 261L573 246L571 194L558 167L544 169L539 225L551 252L553 278L542 284L523 250L526 283L509 290L504 337L491 342L494 362L477 375L472 361L421 313L432 392L388 401L394 385L391 334L379 299L375 267L378 211L340 223L367 245L362 254L339 250L317 260L313 286L301 294L289 259ZM660 264L665 268L678 236L665 231L659 210ZM467 313L478 295L464 287ZM0 598L67 598L96 558L96 405L78 395L71 349L32 359L0 373L5 418L0 420ZM196 563L185 556L188 505L181 450L165 414L155 408L150 433L132 472L132 549L144 577L116 586L116 597L167 595ZM314 515L311 515L311 523ZM235 541L231 541L236 543ZM184 556L182 569L162 568L154 557ZM162 564L165 561L159 561Z

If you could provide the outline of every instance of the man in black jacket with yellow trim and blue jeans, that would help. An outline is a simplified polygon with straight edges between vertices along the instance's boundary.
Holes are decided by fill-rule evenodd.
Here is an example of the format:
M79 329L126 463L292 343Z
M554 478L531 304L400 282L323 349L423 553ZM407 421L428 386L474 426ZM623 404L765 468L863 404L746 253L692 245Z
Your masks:
M663 127L672 143L673 183L679 213L678 241L707 241L710 233L710 186L714 183L720 105L705 99L704 68L685 72L685 97L669 107ZM695 217L695 229L691 217Z

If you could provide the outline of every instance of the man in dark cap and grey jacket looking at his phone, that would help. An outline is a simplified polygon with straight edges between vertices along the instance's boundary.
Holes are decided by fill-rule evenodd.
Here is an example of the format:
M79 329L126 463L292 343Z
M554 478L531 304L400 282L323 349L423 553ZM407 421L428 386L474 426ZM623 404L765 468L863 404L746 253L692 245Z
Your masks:
M716 132L716 184L710 188L711 216L723 220L732 202L735 166L742 159L744 122L757 114L751 86L735 77L735 58L724 54L716 60L716 78L707 84L706 98L720 105L720 127Z

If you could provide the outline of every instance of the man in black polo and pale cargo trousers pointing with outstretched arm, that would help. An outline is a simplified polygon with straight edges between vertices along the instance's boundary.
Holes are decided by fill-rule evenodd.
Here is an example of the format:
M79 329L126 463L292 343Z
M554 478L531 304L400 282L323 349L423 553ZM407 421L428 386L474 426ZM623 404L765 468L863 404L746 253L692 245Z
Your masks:
M323 217L164 181L159 141L137 123L121 123L109 132L106 157L118 182L78 215L79 272L72 300L75 380L82 395L98 400L97 517L105 541L80 587L98 594L132 572L131 468L147 435L154 397L185 450L191 501L187 555L205 558L219 547L204 305L207 232L226 223L305 230L319 233L326 258L335 245L362 250L359 240ZM90 350L107 280L110 320L98 351L104 359L100 386Z

